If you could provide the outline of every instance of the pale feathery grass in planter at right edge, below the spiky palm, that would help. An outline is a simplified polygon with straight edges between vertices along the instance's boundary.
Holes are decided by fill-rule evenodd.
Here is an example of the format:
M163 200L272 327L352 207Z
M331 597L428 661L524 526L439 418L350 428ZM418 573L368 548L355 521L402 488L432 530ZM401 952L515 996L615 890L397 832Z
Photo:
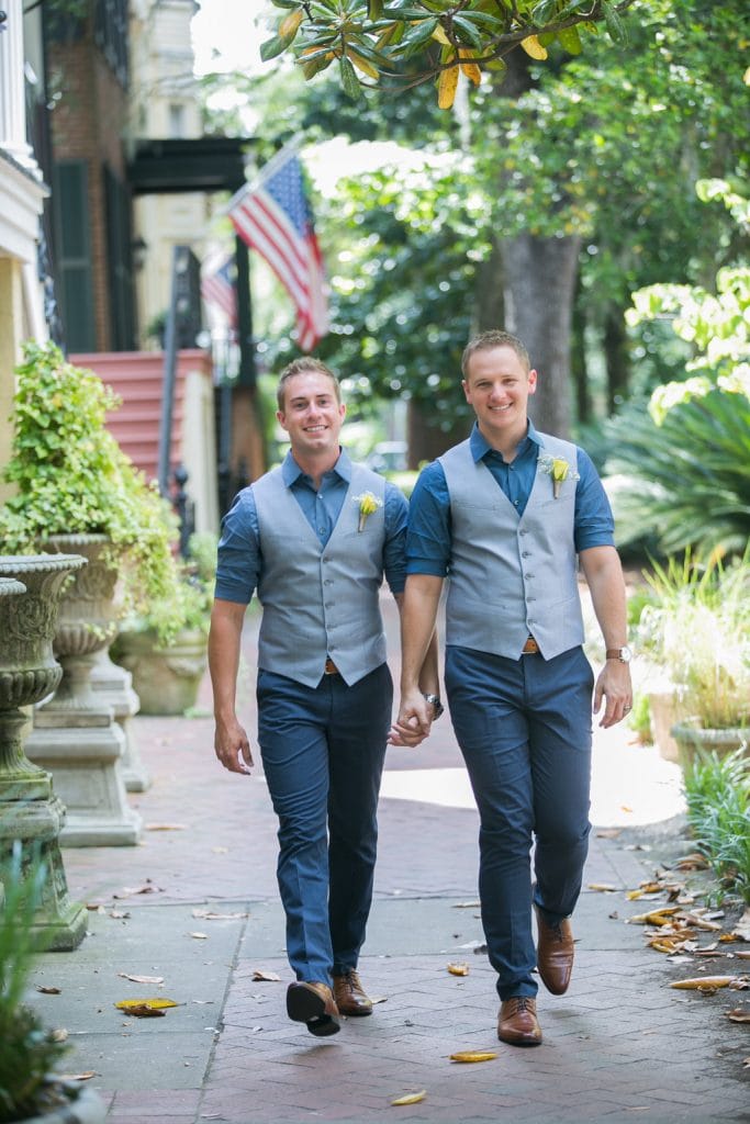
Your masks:
M656 566L641 615L672 683L671 727L684 761L750 742L750 553L724 565L688 554Z

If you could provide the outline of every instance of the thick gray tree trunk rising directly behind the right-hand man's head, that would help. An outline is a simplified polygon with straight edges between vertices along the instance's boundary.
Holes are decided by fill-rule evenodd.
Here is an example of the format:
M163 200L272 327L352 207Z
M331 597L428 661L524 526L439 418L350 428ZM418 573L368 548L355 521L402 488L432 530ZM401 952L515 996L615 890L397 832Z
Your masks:
M519 234L503 242L505 327L525 343L539 372L528 413L537 428L568 437L570 328L580 237Z

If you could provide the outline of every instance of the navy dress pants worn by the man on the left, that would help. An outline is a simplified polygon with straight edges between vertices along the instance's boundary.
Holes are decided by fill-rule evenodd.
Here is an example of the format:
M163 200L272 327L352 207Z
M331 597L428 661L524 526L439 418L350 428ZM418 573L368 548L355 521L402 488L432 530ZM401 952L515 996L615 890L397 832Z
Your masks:
M279 891L297 979L356 968L372 901L380 777L394 687L387 664L352 687L257 674L257 741L279 817Z

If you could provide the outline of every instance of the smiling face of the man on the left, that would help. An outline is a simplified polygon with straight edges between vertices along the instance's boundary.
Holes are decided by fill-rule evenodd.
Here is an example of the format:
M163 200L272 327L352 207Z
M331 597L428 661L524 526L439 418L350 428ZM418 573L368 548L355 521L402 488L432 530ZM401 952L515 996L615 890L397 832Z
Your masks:
M302 456L338 451L346 407L337 401L333 380L322 371L302 371L284 384L284 408L277 413L292 452Z

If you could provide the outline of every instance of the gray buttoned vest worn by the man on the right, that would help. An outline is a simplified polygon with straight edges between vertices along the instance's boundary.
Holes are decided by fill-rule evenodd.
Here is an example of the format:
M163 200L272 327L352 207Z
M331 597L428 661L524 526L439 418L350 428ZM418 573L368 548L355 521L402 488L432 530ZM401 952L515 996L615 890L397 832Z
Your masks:
M584 642L573 545L576 446L539 434L564 457L569 478L558 499L552 478L536 469L523 515L468 441L440 457L451 500L452 546L445 642L521 658L528 635L545 660Z

